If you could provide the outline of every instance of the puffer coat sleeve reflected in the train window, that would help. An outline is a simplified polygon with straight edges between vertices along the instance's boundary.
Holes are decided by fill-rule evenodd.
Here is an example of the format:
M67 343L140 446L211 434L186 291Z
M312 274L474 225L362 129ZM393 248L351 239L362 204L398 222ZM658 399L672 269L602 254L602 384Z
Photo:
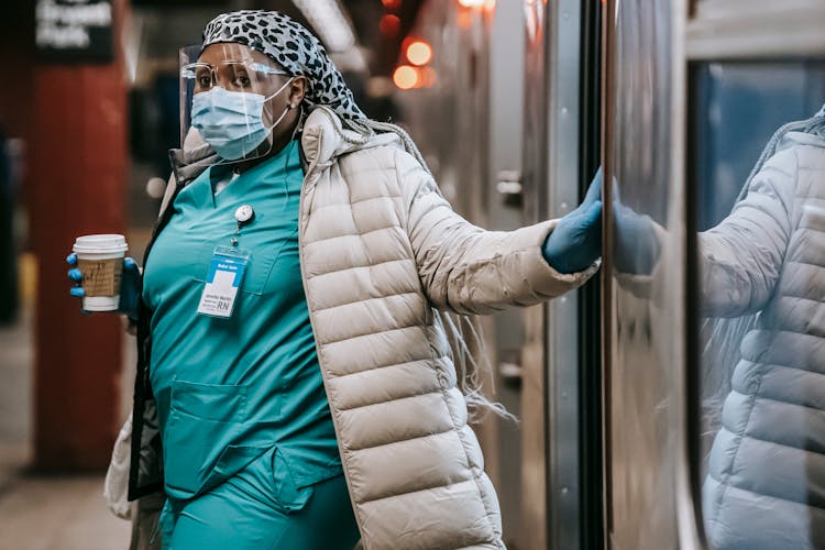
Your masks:
M793 148L771 157L734 211L698 234L704 315L752 314L770 299L793 231L798 164Z

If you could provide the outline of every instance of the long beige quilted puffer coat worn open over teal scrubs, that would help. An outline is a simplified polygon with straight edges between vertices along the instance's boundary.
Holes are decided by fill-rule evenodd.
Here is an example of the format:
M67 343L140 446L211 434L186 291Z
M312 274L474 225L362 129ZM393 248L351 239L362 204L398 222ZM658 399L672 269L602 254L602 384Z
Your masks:
M364 548L504 548L495 490L433 308L537 304L598 265L570 275L548 265L541 244L554 220L512 232L472 226L394 133L363 143L321 107L301 145L304 286ZM133 497L158 461L148 395L135 392L145 430L132 438Z

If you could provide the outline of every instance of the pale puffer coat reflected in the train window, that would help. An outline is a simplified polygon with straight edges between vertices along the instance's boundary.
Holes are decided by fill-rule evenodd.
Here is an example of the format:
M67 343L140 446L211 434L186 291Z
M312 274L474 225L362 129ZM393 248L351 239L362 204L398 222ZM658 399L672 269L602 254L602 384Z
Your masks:
M707 312L759 312L711 451L708 538L825 548L825 140L788 133L698 244Z

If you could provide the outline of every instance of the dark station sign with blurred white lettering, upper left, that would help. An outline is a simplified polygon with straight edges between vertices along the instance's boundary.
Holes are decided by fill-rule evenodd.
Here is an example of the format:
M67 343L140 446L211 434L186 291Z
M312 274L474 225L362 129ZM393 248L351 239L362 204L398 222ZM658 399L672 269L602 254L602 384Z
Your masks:
M35 45L41 61L112 61L112 0L36 0L35 10Z

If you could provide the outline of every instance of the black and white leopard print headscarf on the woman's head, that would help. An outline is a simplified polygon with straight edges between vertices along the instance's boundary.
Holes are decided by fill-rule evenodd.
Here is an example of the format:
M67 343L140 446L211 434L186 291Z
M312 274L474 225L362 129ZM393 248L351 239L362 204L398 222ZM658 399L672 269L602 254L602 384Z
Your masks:
M372 134L370 120L346 86L323 45L304 26L276 11L243 10L222 13L204 29L204 44L234 42L267 55L294 76L305 76L305 101L327 106L351 130Z

